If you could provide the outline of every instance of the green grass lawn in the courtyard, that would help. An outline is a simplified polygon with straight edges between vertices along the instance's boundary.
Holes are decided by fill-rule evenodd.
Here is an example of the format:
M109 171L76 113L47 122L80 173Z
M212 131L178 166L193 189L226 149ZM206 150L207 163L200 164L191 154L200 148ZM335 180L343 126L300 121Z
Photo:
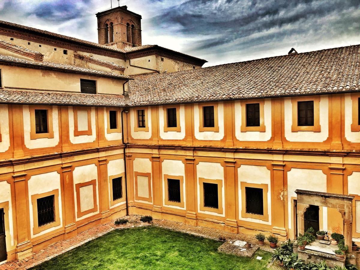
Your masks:
M266 269L270 253L238 257L221 244L153 226L113 230L32 269Z

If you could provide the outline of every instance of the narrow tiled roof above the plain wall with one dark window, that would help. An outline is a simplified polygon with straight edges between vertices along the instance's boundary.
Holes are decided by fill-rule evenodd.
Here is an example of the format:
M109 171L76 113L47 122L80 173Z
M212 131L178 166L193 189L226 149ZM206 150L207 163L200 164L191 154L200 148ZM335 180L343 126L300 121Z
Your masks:
M112 72L106 72L106 71L100 71L96 69L90 69L90 68L84 68L84 67L77 67L72 66L68 64L60 64L60 63L54 63L54 62L35 62L35 61L29 61L24 59L19 59L15 57L10 57L6 55L0 55L0 64L21 64L21 66L25 67L32 67L32 68L50 68L50 69L56 69L59 71L67 71L67 72L74 72L74 73L86 73L89 75L95 75L100 77L112 77L112 78L118 78L118 79L129 79L129 76L125 75L117 75Z

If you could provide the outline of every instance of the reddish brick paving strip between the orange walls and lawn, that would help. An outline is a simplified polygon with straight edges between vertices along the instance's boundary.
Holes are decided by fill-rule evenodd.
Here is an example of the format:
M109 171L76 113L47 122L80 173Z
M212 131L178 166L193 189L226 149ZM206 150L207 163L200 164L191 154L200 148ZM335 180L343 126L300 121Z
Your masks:
M127 228L139 227L140 216L131 215L125 217L129 220ZM181 233L188 233L196 235L199 237L210 238L214 240L219 240L219 237L226 239L238 239L243 241L250 241L252 243L257 243L257 240L253 235L247 234L233 234L227 233L226 231L211 229L200 226L190 226L179 222L168 221L168 220L153 220L153 225L160 228L179 231ZM33 257L27 257L22 260L13 260L6 262L5 264L0 265L0 270L7 269L29 269L33 266L39 265L42 262L51 260L52 258L65 253L73 248L81 246L86 242L94 240L110 231L114 230L114 222L111 221L108 224L99 225L89 230L79 233L76 237L67 240L61 240L57 243L51 244L45 249L41 249L38 252L33 253ZM270 248L268 244L265 243L264 246L260 246L260 249L273 252L273 249ZM269 269L273 270L282 270L282 267L278 267L276 264L269 264Z

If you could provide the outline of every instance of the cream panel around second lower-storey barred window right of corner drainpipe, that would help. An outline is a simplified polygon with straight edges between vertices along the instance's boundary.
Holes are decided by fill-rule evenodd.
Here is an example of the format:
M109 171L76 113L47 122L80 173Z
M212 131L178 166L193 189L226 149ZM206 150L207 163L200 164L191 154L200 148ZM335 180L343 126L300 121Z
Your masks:
M197 173L197 192L198 192L198 198L200 198L200 184L199 184L199 177L205 178L205 179L213 179L213 180L222 180L222 209L223 213L214 213L210 211L201 211L200 210L200 200L198 200L198 212L204 213L208 215L214 215L214 216L225 216L225 186L224 186L224 167L221 166L220 163L216 162L199 162L199 164L196 166L196 173Z

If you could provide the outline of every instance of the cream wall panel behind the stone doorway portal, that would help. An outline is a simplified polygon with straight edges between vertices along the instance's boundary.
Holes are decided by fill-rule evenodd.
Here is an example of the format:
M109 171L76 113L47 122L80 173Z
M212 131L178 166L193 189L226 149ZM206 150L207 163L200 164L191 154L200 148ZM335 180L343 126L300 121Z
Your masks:
M293 216L291 207L291 197L296 198L296 189L305 189L318 192L327 192L327 177L322 170L292 168L287 173L288 177L288 224L292 228L291 217ZM323 207L323 228L328 229L327 207Z

